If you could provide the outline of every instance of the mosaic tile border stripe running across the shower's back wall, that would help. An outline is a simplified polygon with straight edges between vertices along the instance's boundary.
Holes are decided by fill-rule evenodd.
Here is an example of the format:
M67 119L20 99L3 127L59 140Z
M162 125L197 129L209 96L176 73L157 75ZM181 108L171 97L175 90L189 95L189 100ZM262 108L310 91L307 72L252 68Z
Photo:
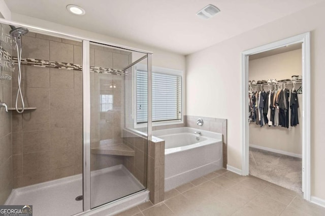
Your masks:
M13 57L13 62L17 64L17 57ZM64 63L64 62L55 62L55 61L47 61L40 59L31 59L31 58L22 58L21 64L36 66L36 67L49 67L49 68L58 68L58 69L67 69L67 70L77 70L82 71L82 65L72 64L72 63ZM104 68L104 67L95 67L90 66L90 72L94 73L105 73L112 75L128 75L127 71L124 70L116 70L112 68Z

